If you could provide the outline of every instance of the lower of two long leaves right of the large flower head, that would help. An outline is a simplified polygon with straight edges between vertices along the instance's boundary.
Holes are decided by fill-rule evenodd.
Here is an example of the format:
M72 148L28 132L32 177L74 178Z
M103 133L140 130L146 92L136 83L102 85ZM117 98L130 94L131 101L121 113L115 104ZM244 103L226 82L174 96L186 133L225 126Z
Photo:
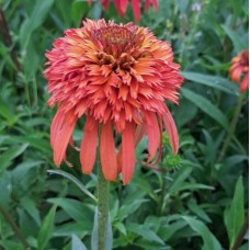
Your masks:
M209 115L212 118L214 118L216 122L218 122L224 128L228 128L228 121L227 117L224 115L224 113L215 106L211 101L203 98L200 94L194 93L191 90L182 88L182 94L189 99L191 102L193 102L197 107L200 107L203 112L205 112L207 115Z

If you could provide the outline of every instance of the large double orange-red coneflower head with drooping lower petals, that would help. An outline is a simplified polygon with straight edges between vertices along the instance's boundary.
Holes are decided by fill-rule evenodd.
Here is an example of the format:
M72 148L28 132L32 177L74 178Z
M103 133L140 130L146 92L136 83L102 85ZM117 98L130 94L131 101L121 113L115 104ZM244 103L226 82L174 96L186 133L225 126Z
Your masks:
M48 104L58 104L50 128L57 166L66 159L73 128L84 115L80 147L83 173L92 171L99 140L104 177L114 181L122 172L127 184L134 172L136 145L143 136L148 137L151 162L161 146L162 123L177 154L178 132L164 101L178 103L177 90L183 78L167 42L132 23L87 20L83 27L68 30L56 39L46 57L49 67L44 75L52 93ZM114 132L122 137L118 154Z

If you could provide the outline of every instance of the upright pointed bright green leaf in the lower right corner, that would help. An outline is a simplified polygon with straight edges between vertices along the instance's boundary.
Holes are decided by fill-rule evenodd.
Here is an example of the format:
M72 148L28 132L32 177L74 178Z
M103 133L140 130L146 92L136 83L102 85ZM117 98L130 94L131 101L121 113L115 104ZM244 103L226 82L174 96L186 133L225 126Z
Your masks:
M225 216L225 224L227 227L227 232L230 241L230 249L234 246L236 238L243 225L245 220L245 209L243 209L243 183L242 177L239 177L235 195L231 202L231 206Z

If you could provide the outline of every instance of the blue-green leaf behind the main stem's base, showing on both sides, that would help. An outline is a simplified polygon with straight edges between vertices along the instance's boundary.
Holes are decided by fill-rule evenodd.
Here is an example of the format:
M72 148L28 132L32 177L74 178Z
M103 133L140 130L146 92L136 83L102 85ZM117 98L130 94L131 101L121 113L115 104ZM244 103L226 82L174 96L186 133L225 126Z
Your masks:
M99 250L98 247L98 206L95 207L94 212L94 225L93 230L91 234L91 249ZM112 223L111 223L111 215L109 213L107 218L107 230L106 230L106 250L111 250L113 245L113 232L112 232Z

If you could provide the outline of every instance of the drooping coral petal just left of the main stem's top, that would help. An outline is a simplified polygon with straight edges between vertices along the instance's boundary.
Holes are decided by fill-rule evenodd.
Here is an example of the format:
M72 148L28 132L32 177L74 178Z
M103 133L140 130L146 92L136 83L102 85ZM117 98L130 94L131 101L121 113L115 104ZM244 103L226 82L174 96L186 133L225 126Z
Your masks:
M91 173L96 157L98 122L93 122L92 128L88 129L90 120L93 118L88 116L80 149L81 170L86 174Z

